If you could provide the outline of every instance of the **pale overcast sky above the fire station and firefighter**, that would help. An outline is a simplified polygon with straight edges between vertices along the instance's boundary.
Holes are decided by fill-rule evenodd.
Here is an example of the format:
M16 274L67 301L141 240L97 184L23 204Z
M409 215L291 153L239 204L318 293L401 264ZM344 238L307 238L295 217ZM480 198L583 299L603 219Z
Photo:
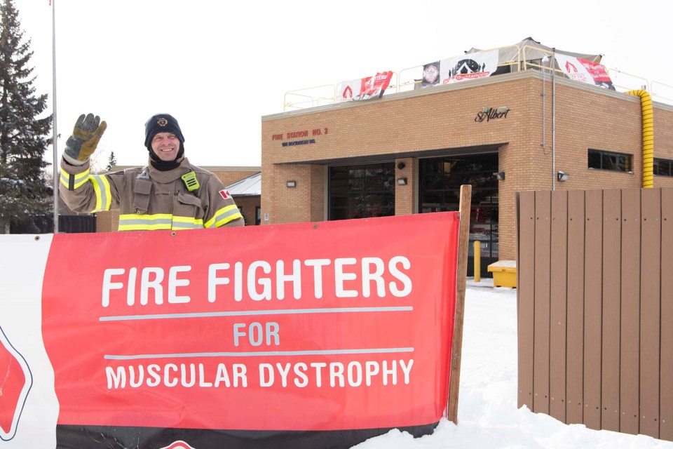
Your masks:
M283 112L287 91L400 72L528 36L559 50L603 54L606 67L673 86L668 1L53 4L58 154L77 116L93 112L108 123L99 145L103 166L110 152L119 165L147 163L144 122L157 112L178 119L192 163L259 166L261 116ZM15 6L32 39L37 93L49 94L51 112L49 0Z

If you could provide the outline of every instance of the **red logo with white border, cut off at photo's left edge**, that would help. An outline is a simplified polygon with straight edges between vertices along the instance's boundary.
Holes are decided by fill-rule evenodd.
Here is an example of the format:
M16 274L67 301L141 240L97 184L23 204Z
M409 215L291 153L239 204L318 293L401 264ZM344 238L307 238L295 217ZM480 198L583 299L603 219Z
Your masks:
M0 440L14 437L31 385L25 359L0 328Z

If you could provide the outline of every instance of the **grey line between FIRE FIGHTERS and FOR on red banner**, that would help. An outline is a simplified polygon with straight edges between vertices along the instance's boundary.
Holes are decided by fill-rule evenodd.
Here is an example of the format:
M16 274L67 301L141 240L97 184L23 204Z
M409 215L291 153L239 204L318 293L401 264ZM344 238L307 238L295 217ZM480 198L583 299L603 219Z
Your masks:
M245 311L212 311L189 314L155 314L155 315L120 315L101 316L99 321L128 320L160 320L175 318L211 318L213 316L253 316L253 315L299 315L299 314L342 314L370 311L412 311L414 307L334 307L331 309L279 309L279 310L245 310Z

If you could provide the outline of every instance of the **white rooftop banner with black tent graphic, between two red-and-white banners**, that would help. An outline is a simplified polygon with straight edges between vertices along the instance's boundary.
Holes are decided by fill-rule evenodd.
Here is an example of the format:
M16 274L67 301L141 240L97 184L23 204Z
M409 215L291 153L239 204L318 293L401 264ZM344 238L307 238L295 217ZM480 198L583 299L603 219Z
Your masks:
M423 66L421 87L440 86L491 76L498 69L498 50L454 56Z

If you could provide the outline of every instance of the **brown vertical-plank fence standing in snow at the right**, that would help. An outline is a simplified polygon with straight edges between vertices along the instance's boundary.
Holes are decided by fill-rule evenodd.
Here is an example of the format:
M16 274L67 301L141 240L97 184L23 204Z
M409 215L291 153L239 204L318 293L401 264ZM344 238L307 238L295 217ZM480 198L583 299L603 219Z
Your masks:
M516 202L519 407L673 441L673 189Z

